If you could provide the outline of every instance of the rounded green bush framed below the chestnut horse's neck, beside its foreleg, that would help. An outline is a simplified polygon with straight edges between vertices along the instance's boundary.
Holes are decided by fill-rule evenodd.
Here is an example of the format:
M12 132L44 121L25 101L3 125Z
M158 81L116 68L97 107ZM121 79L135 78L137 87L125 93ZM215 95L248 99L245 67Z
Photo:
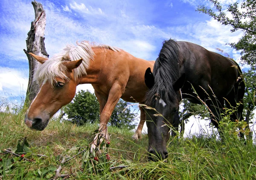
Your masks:
M99 102L96 96L88 90L76 93L73 101L63 110L68 120L77 125L99 121Z

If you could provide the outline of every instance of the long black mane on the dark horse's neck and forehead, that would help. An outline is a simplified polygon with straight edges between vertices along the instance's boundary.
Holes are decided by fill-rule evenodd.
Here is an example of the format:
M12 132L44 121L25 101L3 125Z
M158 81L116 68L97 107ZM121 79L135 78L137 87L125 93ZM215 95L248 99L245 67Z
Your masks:
M180 48L177 42L169 39L163 42L163 47L154 64L154 86L145 95L145 103L152 106L156 93L167 103L178 101L177 92L172 87L180 76Z

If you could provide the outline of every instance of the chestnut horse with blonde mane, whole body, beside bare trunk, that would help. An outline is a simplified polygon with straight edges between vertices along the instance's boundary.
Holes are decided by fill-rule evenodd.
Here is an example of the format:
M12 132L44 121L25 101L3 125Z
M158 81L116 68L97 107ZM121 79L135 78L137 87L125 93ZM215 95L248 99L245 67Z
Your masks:
M36 130L47 127L49 119L75 96L76 86L92 84L100 104L100 127L108 141L107 123L119 98L143 103L148 88L144 82L145 70L153 68L154 61L139 59L108 45L93 45L86 41L67 45L62 53L50 59L36 56L41 62L35 80L41 84L25 117L25 124ZM134 138L140 138L145 111L140 107L140 124Z

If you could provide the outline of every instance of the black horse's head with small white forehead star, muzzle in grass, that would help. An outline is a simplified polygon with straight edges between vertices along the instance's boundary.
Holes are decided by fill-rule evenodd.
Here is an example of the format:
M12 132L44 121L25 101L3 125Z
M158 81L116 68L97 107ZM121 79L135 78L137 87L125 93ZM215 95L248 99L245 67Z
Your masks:
M169 140L170 128L179 107L179 101L181 100L179 90L183 86L185 77L181 76L172 84L173 92L177 94L174 97L177 98L169 98L168 101L165 94L156 92L157 88L155 88L154 84L157 84L157 82L155 81L153 73L148 68L145 72L145 84L149 88L145 99L148 106L146 108L146 124L148 127L148 159L153 161L163 160L168 157L166 143Z

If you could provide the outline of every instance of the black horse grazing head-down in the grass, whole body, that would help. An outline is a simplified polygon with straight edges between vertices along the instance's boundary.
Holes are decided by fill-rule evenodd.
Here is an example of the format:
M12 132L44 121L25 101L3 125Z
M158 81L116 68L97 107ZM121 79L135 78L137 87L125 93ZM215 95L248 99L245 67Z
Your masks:
M233 59L199 45L165 41L153 73L150 68L145 71L145 84L150 88L145 104L152 107L146 110L149 160L167 158L166 142L170 127L177 123L174 116L182 98L206 104L217 129L224 105L234 108L238 103L231 118L233 121L243 119L245 84L241 69Z

